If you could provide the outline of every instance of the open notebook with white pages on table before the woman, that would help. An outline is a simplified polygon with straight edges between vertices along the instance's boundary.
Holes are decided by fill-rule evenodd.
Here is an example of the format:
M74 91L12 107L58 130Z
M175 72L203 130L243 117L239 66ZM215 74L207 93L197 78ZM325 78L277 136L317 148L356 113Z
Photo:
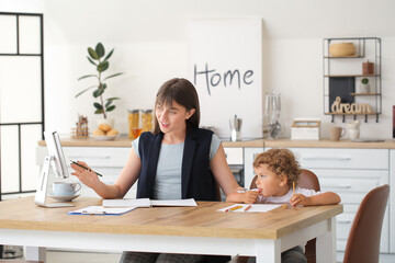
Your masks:
M103 207L151 207L151 206L198 206L193 198L190 199L150 199L150 198L124 198L103 199Z

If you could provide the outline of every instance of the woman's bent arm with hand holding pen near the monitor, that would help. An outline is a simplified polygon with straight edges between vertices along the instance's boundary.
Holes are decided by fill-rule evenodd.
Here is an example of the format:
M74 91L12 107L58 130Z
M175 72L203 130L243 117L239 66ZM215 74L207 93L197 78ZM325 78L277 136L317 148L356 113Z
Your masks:
M88 167L84 162L79 163ZM127 191L138 179L142 162L135 150L132 148L126 164L114 184L105 184L101 182L94 172L80 168L76 164L71 164L71 168L75 170L75 172L71 173L72 175L76 175L83 184L91 187L102 198L110 199L122 198L125 196Z

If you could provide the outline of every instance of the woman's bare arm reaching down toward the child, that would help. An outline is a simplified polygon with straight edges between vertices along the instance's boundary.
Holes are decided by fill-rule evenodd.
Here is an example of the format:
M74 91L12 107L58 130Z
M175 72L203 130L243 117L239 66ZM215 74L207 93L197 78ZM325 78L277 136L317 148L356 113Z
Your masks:
M258 198L258 192L237 193L244 190L240 187L226 162L224 147L219 145L214 158L210 162L214 178L224 191L226 202L253 203Z

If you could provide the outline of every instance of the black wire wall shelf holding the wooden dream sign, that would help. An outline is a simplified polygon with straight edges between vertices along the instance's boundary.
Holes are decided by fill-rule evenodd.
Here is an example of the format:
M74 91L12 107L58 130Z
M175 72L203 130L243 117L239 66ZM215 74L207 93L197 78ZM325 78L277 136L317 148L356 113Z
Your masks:
M356 48L353 55L334 56L331 45L350 44ZM342 116L347 115L379 115L382 112L382 81L381 81L381 38L379 37L343 37L325 38L324 53L324 113ZM373 70L363 72L362 62L372 62ZM362 79L368 79L370 92L358 91ZM337 100L340 98L340 101ZM335 104L335 105L334 105ZM348 105L348 106L347 106ZM369 106L366 106L369 105ZM368 110L370 107L370 111Z

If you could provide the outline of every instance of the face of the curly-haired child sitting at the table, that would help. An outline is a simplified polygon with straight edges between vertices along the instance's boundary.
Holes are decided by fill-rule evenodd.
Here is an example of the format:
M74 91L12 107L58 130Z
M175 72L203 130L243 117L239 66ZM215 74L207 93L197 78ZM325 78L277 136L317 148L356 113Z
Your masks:
M258 168L253 168L253 170L258 176L256 182L257 186L258 188L262 190L261 194L263 196L268 197L283 195L284 180L269 170L269 164L260 164Z

